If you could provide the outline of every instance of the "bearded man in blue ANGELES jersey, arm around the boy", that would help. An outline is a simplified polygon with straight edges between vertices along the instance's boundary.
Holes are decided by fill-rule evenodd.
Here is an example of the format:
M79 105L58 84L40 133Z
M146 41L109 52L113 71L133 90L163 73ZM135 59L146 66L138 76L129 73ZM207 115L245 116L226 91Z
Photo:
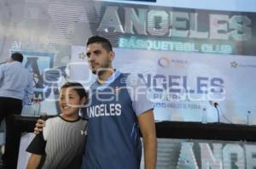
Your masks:
M114 53L104 37L90 37L86 55L96 82L86 108L88 131L83 169L139 169L143 135L146 169L156 163L153 106L147 88L137 78L113 70ZM42 125L37 124L38 127Z

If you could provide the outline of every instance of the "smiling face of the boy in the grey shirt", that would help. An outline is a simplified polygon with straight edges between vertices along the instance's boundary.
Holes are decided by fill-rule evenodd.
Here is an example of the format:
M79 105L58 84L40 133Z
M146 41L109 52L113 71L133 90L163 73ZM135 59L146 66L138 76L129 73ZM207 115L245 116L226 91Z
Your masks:
M85 103L85 98L80 99L79 94L72 88L61 88L59 106L62 115L71 117L76 116Z

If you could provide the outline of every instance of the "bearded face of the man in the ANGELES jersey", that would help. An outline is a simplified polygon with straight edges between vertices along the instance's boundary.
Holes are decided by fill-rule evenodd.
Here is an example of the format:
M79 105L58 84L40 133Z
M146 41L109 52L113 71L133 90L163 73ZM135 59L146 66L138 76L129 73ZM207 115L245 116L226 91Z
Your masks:
M107 51L101 43L91 43L86 49L87 61L93 74L100 69L111 68L113 60L113 51ZM104 71L104 70L102 70Z

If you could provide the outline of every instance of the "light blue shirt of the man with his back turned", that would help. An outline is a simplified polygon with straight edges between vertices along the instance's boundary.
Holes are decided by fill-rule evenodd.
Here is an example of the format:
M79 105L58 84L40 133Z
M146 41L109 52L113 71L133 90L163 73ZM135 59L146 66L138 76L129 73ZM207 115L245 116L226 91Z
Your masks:
M0 65L0 97L31 102L33 94L32 74L19 61Z

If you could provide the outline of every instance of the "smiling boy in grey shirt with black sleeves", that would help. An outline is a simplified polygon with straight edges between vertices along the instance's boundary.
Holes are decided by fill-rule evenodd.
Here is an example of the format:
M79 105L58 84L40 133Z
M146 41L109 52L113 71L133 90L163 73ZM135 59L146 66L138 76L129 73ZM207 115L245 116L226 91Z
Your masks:
M79 110L87 98L84 87L78 82L67 82L61 87L61 114L46 120L43 132L36 135L26 149L32 153L26 169L81 168L86 121L79 117Z

